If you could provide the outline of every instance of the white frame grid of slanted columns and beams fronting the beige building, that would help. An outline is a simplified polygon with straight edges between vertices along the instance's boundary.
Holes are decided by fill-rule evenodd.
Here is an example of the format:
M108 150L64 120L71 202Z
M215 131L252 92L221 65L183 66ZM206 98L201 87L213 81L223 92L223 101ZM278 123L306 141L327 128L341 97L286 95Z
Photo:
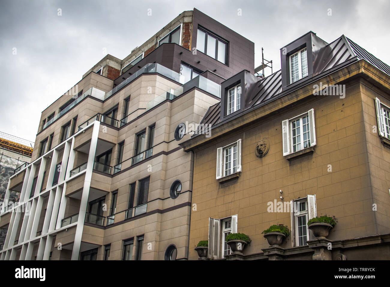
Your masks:
M34 162L30 163L27 167L11 176L14 177L20 174L23 171L26 171L23 185L20 193L20 201L18 205L12 207L10 210L5 210L5 207L8 206L10 190L9 183L7 191L5 193L4 205L2 206L1 217L4 216L7 212L12 212L9 228L7 231L7 235L5 237L3 250L0 251L1 260L15 260L17 250L21 248L21 253L19 260L31 260L32 252L34 249L34 244L39 241L37 260L48 260L51 251L51 245L53 243L53 237L64 229L70 228L72 226L76 227L76 233L74 236L73 250L71 260L78 260L80 245L81 245L81 237L83 234L84 227L84 218L87 210L90 182L92 177L92 169L94 165L94 157L96 152L97 139L99 135L99 127L100 122L94 121L90 123L87 127L82 130L76 132L71 137L67 138L64 142L58 144L55 148L52 148L49 152L46 152L43 156L39 157ZM92 138L90 142L89 148L89 156L87 161L87 168L79 173L70 176L70 171L73 169L74 159L76 150L73 149L75 137L80 133L85 132L85 130L92 128ZM64 150L62 156L62 166L67 166L66 170L61 169L58 176L58 183L52 186L55 168L57 166L57 160L59 153ZM43 173L46 167L46 162L51 160L48 181L46 188L41 191L41 184L43 182ZM67 165L65 163L68 163ZM34 175L36 168L39 167L37 184L34 191L34 196L30 197L30 193L28 191L31 190ZM65 173L65 174L64 174ZM61 221L64 219L67 196L66 194L66 185L67 182L73 180L75 177L78 177L85 173L85 180L82 190L82 197L80 203L80 210L78 221L75 223L71 223L69 225L61 227ZM61 180L65 178L64 180ZM39 236L35 236L37 234L37 228L39 225L39 218L41 217L42 205L44 198L48 198L48 206L46 209L46 214L44 217L44 223L42 232ZM22 212L20 210L26 207L31 206L24 213L23 218L21 217ZM57 219L58 213L58 219ZM18 226L20 225L20 220L22 220L21 231L18 239L18 243L14 244L16 241L16 235L18 231ZM57 224L56 224L57 222Z

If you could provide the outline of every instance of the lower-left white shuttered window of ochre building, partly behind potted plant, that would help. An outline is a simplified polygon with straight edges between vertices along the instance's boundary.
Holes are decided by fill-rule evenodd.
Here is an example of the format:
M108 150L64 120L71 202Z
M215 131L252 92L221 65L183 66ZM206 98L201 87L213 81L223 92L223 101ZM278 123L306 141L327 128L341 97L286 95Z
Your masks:
M222 219L209 217L209 246L207 258L220 259L230 255L231 250L227 245L226 236L237 233L238 215L232 215Z

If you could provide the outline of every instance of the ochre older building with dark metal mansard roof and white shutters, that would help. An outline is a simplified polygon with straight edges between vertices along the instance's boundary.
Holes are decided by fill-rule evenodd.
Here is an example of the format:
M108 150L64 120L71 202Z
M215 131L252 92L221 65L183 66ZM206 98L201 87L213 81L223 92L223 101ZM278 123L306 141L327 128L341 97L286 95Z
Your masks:
M223 81L202 119L211 137L180 143L195 153L189 259L203 240L212 259L388 259L390 67L344 35L313 32L280 57L264 79ZM307 222L323 215L338 222L316 238ZM290 234L270 247L262 232L278 224ZM225 240L237 232L252 239L242 255Z

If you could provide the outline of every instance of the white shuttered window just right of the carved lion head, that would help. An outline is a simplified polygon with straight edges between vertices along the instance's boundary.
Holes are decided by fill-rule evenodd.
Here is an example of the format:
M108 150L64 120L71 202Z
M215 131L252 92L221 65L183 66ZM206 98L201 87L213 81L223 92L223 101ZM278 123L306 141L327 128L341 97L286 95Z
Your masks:
M283 155L316 145L314 109L282 121Z

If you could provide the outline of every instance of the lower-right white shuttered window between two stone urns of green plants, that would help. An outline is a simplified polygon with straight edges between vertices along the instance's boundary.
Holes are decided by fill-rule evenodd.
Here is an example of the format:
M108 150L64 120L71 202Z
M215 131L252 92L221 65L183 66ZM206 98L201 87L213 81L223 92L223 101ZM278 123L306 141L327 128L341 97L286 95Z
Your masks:
M307 228L307 222L317 216L316 195L308 194L305 198L290 201L291 213L291 244L303 246L307 241L314 239L311 230Z

